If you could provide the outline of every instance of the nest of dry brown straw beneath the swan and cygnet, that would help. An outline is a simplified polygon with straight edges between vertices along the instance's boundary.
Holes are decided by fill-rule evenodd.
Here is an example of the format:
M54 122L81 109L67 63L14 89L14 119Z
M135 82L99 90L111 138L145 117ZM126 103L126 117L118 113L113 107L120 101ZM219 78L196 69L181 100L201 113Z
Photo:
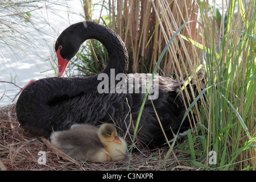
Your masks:
M0 169L1 170L126 170L129 158L116 162L89 163L77 161L49 143L48 138L26 133L19 126L15 104L0 109ZM157 170L162 164L168 148L157 148L146 152L133 152L131 170ZM46 154L46 164L38 162L40 151ZM183 155L184 154L177 154ZM182 162L181 162L182 163ZM195 169L183 166L170 156L163 170Z

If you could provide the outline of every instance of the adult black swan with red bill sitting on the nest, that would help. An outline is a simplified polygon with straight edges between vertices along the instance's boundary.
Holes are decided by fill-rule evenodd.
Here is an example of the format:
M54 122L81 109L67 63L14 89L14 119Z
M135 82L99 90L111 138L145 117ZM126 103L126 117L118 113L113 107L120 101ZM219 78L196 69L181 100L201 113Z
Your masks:
M81 44L87 39L100 41L108 50L109 62L102 73L111 76L111 69L114 69L114 76L118 73L126 74L128 54L125 44L117 33L94 22L72 24L61 33L55 44L59 77L32 82L23 90L16 102L18 121L31 133L49 137L52 131L67 130L75 123L96 126L102 123L114 123L119 127L119 132L126 132L128 129L131 136L134 134L144 97L141 90L135 93L99 93L97 86L102 82L98 79L101 73L90 77L61 78L68 61L76 55ZM143 76L143 74L127 75L129 81L139 79L142 82L145 77ZM184 101L181 94L177 94L180 89L179 81L161 76L157 79L158 98L152 101L167 138L171 140L179 129L186 111ZM115 84L117 82L115 81ZM180 84L182 86L181 82ZM188 92L192 99L189 88ZM187 102L186 97L185 101ZM186 118L180 131L188 128L189 121ZM144 105L136 137L137 142L142 146L157 147L166 143L150 100L146 100Z

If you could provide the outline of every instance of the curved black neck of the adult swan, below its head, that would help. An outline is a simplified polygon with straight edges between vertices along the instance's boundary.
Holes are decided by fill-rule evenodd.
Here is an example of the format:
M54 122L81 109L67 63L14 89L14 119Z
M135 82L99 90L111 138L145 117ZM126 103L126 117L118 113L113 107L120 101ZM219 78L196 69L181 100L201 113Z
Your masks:
M108 51L109 62L102 73L110 74L110 69L115 69L115 74L127 73L128 53L122 39L116 32L94 22L80 22L78 36L82 42L88 39L100 41Z

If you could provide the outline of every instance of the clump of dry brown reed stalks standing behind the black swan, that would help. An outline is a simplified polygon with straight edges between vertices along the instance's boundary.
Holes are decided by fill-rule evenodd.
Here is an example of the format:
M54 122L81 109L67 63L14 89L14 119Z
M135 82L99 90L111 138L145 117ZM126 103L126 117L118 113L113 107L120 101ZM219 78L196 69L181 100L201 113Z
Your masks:
M85 18L93 20L92 1L82 2ZM152 72L171 36L184 22L197 20L198 10L199 6L192 0L109 1L108 26L116 30L125 42L130 56L130 72ZM100 19L96 21L100 22ZM185 26L182 34L201 42L198 40L200 30L197 30L196 22ZM187 77L200 64L198 53L202 52L177 36L159 66L159 73L164 76Z

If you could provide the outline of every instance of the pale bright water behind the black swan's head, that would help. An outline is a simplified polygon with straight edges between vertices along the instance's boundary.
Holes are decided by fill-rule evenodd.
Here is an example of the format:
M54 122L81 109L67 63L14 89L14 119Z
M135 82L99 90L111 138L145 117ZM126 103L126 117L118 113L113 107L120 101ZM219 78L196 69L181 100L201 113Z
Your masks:
M19 87L23 88L30 80L55 76L53 47L57 37L70 24L84 20L79 0L45 3L37 3L40 8L31 12L34 28L24 20L22 24L12 24L21 32L18 36L24 36L21 41L14 37L7 38L9 44L0 43L0 81L16 84L0 82L0 107L15 103Z

